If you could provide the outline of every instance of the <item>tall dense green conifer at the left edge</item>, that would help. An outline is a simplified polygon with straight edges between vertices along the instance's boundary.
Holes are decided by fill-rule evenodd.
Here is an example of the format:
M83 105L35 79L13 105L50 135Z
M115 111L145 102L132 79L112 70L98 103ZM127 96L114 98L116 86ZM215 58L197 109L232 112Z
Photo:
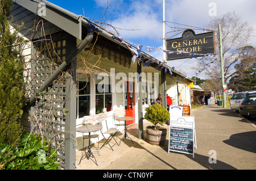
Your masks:
M0 0L0 142L14 144L22 132L24 100L22 39L8 20L11 0Z

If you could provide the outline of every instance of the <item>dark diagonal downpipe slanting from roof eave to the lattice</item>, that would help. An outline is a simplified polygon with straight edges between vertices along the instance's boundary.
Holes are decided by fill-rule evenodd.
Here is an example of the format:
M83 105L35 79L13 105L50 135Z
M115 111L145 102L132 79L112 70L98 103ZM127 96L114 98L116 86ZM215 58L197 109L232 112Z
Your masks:
M77 57L77 55L92 41L93 31L88 32L87 36L80 43L80 45L73 50L73 52L68 56L68 58L53 72L53 74L44 82L44 84L36 90L36 92L42 92L60 75L61 71L65 70L69 64ZM30 102L27 107L31 106L35 102L36 95L30 98Z

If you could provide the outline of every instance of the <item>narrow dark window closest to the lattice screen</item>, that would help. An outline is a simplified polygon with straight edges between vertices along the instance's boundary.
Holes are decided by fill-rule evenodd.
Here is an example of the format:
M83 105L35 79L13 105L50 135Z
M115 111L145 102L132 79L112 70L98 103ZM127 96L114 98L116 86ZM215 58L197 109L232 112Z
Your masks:
M89 75L77 75L78 79L78 117L88 116L90 112L90 77Z

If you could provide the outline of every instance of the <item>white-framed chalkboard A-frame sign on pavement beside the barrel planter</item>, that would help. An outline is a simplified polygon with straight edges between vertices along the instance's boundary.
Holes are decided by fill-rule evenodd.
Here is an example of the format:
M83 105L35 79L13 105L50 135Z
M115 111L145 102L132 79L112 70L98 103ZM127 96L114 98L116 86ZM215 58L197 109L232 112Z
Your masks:
M193 116L170 117L169 151L193 154L195 121Z

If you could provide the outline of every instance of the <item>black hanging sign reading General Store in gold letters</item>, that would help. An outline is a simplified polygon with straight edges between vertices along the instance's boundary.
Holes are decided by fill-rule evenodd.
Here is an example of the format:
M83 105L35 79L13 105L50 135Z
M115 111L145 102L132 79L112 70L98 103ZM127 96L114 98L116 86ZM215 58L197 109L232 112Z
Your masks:
M167 50L174 53L167 54L167 60L175 60L181 58L189 58L189 53L204 56L207 53L215 54L215 39L213 32L195 34L193 30L186 30L182 37L166 40ZM180 50L188 53L177 53Z

